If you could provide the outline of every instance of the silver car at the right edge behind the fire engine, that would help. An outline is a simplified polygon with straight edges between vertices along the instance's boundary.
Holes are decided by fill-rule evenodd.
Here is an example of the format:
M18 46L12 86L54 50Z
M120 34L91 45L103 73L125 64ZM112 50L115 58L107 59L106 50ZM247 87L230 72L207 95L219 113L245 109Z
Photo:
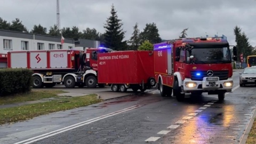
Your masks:
M245 86L246 84L256 84L256 67L247 67L244 68L242 73L240 74L239 78L239 85Z

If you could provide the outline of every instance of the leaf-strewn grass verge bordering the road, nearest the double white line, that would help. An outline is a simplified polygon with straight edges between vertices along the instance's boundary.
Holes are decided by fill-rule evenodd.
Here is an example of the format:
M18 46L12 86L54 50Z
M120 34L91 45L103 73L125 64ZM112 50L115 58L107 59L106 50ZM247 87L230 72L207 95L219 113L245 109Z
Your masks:
M31 105L24 105L0 110L0 124L26 121L36 116L50 114L56 111L74 109L101 102L96 94L84 97L59 97L59 100L52 100Z

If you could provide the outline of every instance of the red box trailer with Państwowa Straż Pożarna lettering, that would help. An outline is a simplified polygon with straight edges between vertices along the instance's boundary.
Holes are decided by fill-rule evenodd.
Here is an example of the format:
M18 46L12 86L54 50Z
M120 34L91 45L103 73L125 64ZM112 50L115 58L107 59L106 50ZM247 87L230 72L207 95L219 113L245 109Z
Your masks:
M114 92L145 91L155 85L153 51L118 51L98 54L98 83Z

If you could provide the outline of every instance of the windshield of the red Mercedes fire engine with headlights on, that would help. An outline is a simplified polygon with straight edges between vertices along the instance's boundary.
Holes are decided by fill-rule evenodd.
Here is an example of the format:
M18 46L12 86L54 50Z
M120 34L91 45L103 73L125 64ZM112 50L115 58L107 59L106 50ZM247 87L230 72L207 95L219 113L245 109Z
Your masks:
M230 63L230 53L228 47L196 48L186 50L186 60L191 62L190 56L193 55L194 63Z

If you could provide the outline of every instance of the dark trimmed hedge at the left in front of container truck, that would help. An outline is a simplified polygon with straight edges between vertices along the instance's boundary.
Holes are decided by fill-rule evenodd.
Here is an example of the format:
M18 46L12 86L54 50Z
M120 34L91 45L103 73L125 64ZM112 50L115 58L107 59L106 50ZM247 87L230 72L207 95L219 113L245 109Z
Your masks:
M0 96L29 92L32 74L29 69L0 69Z

